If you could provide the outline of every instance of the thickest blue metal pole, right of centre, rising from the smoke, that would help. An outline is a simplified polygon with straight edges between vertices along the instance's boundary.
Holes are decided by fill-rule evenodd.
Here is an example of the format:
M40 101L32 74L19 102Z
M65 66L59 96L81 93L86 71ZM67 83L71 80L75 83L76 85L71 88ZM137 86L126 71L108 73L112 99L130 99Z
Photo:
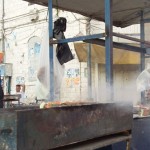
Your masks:
M106 83L108 100L113 99L113 34L112 34L112 0L105 0L105 57L106 57Z

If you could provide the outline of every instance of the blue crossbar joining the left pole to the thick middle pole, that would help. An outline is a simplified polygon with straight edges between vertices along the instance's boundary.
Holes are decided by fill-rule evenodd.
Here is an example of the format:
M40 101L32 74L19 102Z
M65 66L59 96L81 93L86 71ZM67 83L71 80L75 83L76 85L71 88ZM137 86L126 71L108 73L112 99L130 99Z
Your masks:
M62 40L50 40L50 44L69 43L69 42L83 41L83 40L103 38L103 37L105 37L105 33L93 34L88 36L79 36L79 37L62 39Z

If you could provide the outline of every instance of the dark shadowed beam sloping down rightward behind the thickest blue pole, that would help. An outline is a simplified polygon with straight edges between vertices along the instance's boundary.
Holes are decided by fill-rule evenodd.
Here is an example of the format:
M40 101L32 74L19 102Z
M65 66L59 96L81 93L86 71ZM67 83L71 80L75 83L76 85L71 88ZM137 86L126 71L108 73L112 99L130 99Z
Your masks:
M105 46L105 40L102 40L102 39L84 40L84 42ZM145 48L131 46L131 45L123 44L123 43L113 42L113 47L118 48L118 49L133 51L133 52L146 53Z

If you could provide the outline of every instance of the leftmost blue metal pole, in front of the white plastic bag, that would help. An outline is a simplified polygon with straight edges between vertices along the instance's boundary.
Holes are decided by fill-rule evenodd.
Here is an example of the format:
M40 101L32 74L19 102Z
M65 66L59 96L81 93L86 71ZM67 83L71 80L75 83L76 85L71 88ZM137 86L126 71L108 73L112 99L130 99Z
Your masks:
M49 11L49 39L53 39L53 7L52 0L48 0ZM53 44L49 44L49 64L50 64L50 97L49 101L54 100L54 58L53 58Z

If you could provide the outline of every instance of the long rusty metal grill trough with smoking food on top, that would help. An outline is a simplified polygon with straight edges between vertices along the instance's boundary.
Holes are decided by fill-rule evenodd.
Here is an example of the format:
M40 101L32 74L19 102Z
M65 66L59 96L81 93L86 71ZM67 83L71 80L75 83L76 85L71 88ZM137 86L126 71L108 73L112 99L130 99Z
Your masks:
M0 110L0 149L47 150L131 130L132 105Z

